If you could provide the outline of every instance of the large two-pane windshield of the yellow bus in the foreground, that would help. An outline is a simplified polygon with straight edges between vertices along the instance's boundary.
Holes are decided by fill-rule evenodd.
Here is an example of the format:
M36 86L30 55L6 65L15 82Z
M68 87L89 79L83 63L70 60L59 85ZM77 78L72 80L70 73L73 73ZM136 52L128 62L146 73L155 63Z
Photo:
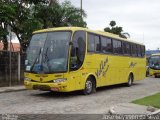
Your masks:
M55 73L67 71L71 32L34 34L27 49L26 71Z

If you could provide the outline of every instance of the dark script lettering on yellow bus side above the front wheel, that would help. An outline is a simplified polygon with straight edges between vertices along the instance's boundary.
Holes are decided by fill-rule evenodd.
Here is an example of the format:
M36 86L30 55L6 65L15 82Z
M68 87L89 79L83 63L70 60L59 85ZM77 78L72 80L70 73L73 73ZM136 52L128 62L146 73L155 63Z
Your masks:
M108 57L104 61L100 62L100 68L95 73L97 77L99 77L101 74L105 76L109 68L109 65L107 65L107 63L108 63Z

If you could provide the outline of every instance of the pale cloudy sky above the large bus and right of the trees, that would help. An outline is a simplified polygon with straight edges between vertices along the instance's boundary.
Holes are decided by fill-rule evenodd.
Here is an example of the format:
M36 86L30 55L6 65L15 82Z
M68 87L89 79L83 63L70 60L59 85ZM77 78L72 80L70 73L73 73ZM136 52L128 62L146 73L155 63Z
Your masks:
M69 1L80 8L80 0ZM114 20L147 50L160 48L160 0L83 0L83 9L89 29L103 30Z

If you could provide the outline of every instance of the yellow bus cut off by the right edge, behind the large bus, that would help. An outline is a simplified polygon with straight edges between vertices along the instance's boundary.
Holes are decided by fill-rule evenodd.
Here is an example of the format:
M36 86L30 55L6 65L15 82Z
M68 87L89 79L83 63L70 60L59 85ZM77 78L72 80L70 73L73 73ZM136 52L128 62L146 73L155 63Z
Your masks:
M160 54L152 54L149 57L149 75L160 76Z

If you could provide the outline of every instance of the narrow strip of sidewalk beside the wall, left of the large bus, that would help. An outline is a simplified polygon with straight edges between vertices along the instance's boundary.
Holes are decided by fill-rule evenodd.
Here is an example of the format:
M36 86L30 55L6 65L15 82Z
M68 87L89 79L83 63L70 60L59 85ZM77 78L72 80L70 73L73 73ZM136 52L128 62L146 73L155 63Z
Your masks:
M22 91L22 90L26 90L24 85L11 86L11 87L0 87L0 93L15 92L15 91Z

